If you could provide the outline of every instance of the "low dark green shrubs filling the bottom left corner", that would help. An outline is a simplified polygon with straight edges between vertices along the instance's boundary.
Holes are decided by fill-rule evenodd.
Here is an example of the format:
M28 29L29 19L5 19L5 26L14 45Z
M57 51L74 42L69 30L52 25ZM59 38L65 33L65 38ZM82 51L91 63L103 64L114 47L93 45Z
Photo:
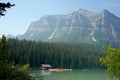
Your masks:
M12 68L7 63L0 63L0 80L28 80L28 69L21 70L21 68Z

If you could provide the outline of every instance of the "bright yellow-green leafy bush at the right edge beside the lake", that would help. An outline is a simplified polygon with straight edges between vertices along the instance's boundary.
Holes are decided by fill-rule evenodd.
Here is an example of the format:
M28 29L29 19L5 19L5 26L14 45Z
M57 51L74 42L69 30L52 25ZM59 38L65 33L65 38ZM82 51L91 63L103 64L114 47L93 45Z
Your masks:
M105 53L105 58L101 58L100 62L107 67L111 78L116 77L120 80L120 49L113 48L110 44L105 48Z

